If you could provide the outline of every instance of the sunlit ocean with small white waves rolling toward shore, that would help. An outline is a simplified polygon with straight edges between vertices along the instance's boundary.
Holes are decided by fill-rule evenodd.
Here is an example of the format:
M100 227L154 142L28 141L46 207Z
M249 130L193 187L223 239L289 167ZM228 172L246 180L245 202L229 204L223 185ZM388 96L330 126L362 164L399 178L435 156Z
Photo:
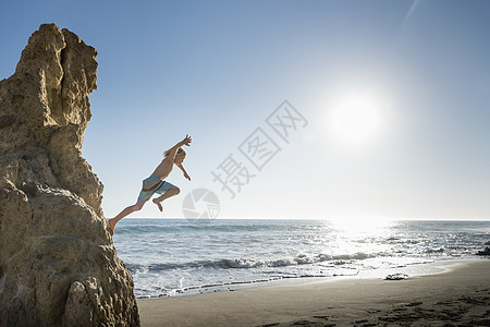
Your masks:
M119 257L137 299L233 291L282 281L434 274L487 259L490 221L132 219L118 223Z

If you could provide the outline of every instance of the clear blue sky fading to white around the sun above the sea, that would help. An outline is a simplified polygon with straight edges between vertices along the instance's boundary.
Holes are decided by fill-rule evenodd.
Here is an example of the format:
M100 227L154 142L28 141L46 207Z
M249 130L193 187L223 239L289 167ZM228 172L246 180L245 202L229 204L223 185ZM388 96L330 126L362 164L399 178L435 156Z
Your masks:
M166 217L206 187L220 218L490 219L490 1L2 1L0 78L42 23L99 52L83 155L107 217L188 133ZM308 121L289 143L266 123L285 99ZM260 171L257 128L281 147ZM233 199L229 155L255 174Z

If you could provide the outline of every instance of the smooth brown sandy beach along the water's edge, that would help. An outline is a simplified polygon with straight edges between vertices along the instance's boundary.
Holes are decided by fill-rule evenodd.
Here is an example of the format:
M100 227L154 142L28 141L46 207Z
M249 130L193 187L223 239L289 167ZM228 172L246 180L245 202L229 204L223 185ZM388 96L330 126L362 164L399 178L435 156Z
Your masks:
M490 261L406 280L344 279L139 300L142 326L490 326Z

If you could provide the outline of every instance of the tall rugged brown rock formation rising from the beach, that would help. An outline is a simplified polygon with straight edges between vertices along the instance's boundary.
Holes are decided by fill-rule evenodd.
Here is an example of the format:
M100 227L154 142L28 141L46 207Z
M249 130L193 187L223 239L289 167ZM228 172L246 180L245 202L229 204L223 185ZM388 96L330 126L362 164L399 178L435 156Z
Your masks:
M81 156L97 51L41 25L0 82L0 326L138 326Z

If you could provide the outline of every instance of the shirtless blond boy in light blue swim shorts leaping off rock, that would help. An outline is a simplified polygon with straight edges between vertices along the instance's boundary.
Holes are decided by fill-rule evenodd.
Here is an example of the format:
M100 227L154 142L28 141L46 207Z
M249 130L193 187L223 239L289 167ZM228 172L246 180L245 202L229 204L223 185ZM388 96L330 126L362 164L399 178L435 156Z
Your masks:
M160 165L158 165L154 173L151 173L149 178L143 181L142 191L139 192L136 204L124 208L118 216L108 220L109 228L111 229L112 234L114 234L115 223L118 223L119 220L123 219L134 211L140 210L145 203L150 199L155 193L160 194L160 196L154 198L152 201L158 206L160 211L163 211L161 202L171 196L177 195L181 192L177 186L164 181L164 179L172 171L174 164L182 170L182 172L184 173L184 178L191 181L191 178L185 171L184 166L182 166L182 162L187 155L182 146L191 146L191 136L185 135L184 140L175 144L171 149L163 153L163 160L160 162Z

